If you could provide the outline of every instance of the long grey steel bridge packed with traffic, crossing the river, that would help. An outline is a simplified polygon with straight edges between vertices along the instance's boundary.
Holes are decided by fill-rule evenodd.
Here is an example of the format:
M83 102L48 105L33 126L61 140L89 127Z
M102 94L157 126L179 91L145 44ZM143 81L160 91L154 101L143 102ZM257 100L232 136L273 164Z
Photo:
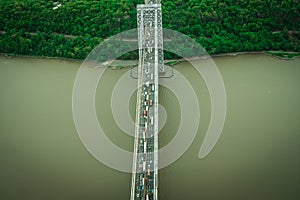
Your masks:
M131 200L158 199L158 78L165 74L160 0L137 6L139 64Z

